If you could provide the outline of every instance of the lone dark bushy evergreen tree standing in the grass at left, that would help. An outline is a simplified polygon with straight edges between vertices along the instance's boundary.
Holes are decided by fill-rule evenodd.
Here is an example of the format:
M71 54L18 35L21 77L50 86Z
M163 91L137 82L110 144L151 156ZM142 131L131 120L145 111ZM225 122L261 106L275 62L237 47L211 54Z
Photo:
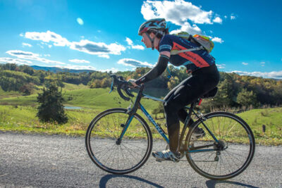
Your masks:
M68 117L63 109L63 97L58 87L54 84L43 89L42 94L38 94L37 102L40 106L37 108L37 117L41 121L56 121L57 123L67 123Z

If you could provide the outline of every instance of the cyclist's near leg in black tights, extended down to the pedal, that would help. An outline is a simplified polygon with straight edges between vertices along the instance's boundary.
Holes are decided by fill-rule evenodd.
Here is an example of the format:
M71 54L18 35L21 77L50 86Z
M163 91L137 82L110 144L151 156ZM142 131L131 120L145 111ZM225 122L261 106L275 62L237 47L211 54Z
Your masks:
M219 75L218 72L210 73L210 71L214 71L213 69L214 68L202 68L201 71L198 71L199 74L192 74L192 76L180 82L180 84L173 88L164 98L164 111L168 127L168 138L170 140L169 147L173 152L178 151L180 130L178 111L216 86L219 82ZM171 156L166 155L167 153L166 151L153 152L153 156L164 159L166 156Z

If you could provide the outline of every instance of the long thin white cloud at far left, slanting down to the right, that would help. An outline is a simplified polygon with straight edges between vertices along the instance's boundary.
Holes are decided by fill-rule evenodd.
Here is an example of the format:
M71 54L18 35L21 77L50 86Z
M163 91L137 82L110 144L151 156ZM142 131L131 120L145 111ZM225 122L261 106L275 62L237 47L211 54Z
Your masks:
M21 51L21 50L9 50L6 51L6 54L9 54L10 56L16 56L17 58L23 58L33 61L41 61L42 63L54 63L54 64L65 64L60 61L52 61L47 58L40 58L39 54L34 54L30 51Z

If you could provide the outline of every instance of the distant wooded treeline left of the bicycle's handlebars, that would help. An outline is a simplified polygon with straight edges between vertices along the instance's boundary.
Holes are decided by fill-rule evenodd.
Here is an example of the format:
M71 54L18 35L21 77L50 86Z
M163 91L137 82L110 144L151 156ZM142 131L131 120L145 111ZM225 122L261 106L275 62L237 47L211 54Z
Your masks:
M109 87L111 77L109 73L93 71L90 73L52 73L44 70L34 70L28 65L12 63L0 64L0 86L5 92L19 91L30 94L36 85L58 82L63 87L63 82L70 84L85 84L90 88Z

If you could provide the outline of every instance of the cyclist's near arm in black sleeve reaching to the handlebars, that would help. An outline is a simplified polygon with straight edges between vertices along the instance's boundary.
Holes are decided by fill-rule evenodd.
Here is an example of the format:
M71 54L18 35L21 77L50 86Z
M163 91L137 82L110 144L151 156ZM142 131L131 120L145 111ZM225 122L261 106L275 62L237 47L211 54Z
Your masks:
M135 83L139 85L145 82L149 82L150 80L153 80L154 78L161 75L161 73L164 73L164 70L166 70L166 67L168 65L169 56L170 52L161 52L157 65L154 66L154 68L152 68L148 73L146 73L146 75L143 75L138 80L136 80Z

